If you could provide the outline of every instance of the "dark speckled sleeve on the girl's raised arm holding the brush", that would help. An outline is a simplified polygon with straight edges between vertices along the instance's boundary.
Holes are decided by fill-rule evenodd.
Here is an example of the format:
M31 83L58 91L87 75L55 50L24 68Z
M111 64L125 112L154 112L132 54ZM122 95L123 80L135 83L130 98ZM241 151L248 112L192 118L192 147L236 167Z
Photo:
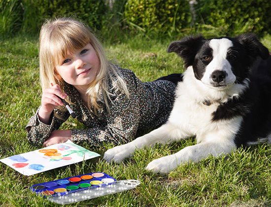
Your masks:
M34 116L32 116L26 126L27 138L34 145L42 146L43 142L49 138L52 131L55 131L60 128L60 126L68 119L68 111L62 111L60 109L54 109L50 117L50 125L44 124L38 118L38 107ZM55 116L58 114L58 118Z

